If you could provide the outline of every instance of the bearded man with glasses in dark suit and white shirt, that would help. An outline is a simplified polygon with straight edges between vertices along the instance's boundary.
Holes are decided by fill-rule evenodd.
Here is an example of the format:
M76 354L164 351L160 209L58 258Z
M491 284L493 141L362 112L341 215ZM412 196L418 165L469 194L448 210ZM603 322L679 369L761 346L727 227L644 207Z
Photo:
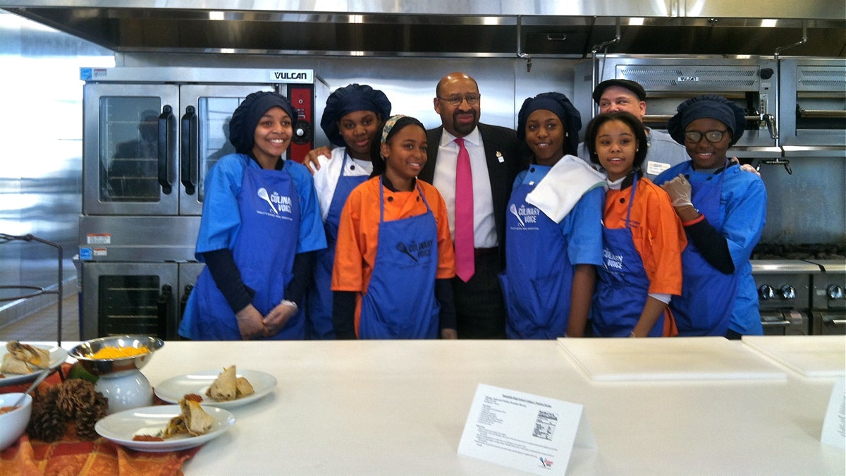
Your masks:
M464 139L473 181L475 272L468 280L453 278L458 336L503 339L506 313L498 274L505 264L505 209L514 178L525 167L525 159L519 155L514 130L479 123L481 95L470 75L455 72L444 76L437 83L433 102L442 126L426 131L429 152L419 178L441 192L453 237L457 138Z

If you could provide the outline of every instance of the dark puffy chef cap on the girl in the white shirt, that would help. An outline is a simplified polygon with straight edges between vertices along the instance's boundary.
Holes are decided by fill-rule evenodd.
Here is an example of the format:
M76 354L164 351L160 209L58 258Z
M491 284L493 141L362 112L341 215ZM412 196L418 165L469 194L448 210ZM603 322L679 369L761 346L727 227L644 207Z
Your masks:
M338 130L338 121L355 111L372 111L385 120L391 115L391 102L384 92L367 85L351 84L332 92L326 100L326 108L320 120L320 126L332 144L338 147L347 145Z

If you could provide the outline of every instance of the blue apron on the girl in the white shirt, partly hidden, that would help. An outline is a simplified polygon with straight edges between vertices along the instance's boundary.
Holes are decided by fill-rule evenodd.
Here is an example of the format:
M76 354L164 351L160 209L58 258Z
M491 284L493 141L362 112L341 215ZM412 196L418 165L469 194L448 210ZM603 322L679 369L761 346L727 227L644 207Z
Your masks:
M347 152L343 152L343 163L341 163L341 176L338 177L338 185L335 185L335 193L332 195L332 202L329 203L329 211L326 220L323 222L323 229L326 231L327 247L316 252L316 266L313 276L313 283L309 290L308 320L309 327L306 338L314 340L325 340L335 338L335 326L332 324L332 266L335 263L335 243L338 241L338 224L341 222L341 211L343 204L347 202L349 192L364 183L367 175L344 176L346 170Z

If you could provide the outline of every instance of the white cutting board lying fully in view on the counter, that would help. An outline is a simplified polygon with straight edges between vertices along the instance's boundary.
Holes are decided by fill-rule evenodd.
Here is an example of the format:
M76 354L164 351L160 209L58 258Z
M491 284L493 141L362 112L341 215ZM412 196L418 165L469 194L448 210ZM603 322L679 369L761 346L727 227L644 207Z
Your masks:
M722 337L558 339L596 381L787 379L738 341Z

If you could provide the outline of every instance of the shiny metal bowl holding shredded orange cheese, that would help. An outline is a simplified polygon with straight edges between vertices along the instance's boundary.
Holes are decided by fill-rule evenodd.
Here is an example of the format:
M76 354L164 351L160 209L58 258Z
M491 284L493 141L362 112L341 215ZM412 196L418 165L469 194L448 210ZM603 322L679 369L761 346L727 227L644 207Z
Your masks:
M92 358L103 347L145 346L149 352L137 356L118 358ZM70 350L70 357L80 362L85 370L95 375L117 374L144 367L153 357L153 352L164 346L164 341L151 335L112 335L99 339L86 340Z

